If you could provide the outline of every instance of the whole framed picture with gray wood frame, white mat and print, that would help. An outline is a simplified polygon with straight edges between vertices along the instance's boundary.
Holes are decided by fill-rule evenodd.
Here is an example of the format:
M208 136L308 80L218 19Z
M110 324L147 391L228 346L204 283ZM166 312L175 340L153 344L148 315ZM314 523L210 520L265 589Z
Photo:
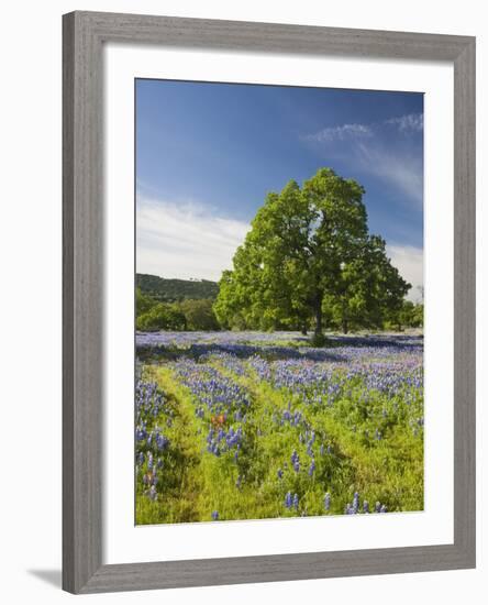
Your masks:
M475 566L475 38L63 28L64 588Z

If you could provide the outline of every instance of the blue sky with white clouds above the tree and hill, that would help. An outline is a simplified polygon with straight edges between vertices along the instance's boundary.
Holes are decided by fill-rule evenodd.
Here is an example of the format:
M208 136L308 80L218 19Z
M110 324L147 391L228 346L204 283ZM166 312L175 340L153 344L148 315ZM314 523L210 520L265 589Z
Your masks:
M422 94L138 79L135 134L138 272L218 279L266 194L330 166L422 285Z

